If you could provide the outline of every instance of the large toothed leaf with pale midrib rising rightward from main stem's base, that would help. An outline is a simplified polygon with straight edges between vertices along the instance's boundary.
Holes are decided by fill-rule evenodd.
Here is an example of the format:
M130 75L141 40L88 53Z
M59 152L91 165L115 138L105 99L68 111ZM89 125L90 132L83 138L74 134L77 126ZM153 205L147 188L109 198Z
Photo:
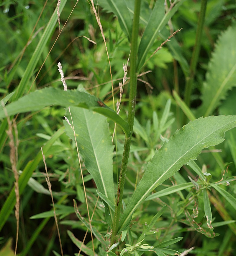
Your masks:
M236 116L200 117L176 131L168 143L156 150L121 216L121 230L153 189L173 176L184 164L196 159L201 150L224 141L224 132L236 126Z

